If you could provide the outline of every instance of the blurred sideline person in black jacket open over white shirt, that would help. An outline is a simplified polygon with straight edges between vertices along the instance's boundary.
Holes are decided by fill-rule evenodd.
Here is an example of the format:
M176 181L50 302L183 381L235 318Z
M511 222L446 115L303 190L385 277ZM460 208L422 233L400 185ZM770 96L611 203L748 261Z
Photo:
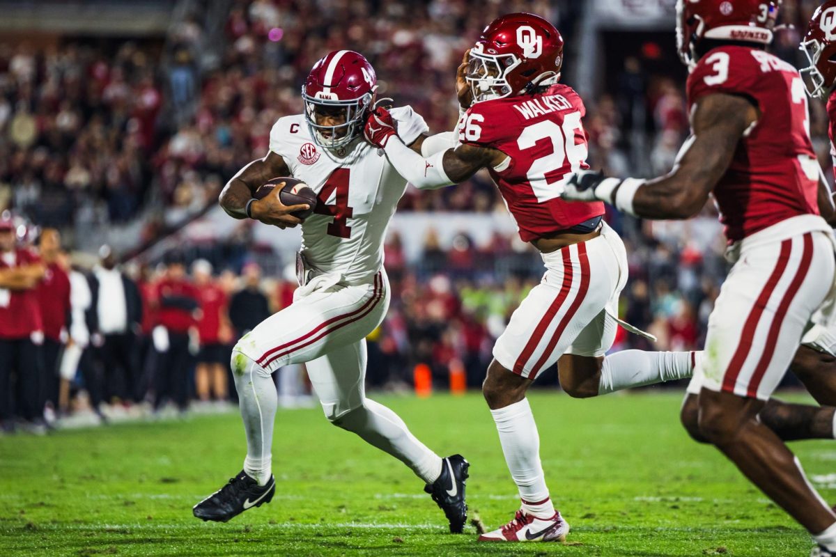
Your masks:
M110 246L99 249L99 264L89 275L91 331L104 369L104 399L140 403L139 369L134 359L136 332L142 322L142 300L134 281L116 266Z

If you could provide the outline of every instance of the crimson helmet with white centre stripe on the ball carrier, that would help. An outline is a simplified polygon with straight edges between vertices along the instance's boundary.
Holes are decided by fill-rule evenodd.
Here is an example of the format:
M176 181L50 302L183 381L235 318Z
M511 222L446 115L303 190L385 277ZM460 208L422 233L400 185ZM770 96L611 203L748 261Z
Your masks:
M314 141L325 149L336 149L359 137L366 111L374 103L375 89L375 68L362 54L334 50L315 63L302 86L305 121ZM317 124L315 114L342 114L344 124Z

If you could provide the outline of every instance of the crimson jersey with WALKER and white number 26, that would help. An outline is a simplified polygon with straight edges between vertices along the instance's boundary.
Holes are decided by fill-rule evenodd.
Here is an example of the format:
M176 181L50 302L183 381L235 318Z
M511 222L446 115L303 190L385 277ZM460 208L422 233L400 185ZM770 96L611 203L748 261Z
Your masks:
M459 121L459 141L490 147L509 159L489 169L523 241L604 215L604 204L560 198L563 177L588 169L584 102L566 85L543 93L474 104Z

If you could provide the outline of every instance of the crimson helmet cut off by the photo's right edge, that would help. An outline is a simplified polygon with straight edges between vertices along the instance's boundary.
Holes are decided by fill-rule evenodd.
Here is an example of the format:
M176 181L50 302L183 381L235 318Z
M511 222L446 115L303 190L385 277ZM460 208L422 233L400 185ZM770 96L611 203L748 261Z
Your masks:
M810 61L801 70L807 93L823 99L836 82L836 0L828 0L813 13L799 48Z

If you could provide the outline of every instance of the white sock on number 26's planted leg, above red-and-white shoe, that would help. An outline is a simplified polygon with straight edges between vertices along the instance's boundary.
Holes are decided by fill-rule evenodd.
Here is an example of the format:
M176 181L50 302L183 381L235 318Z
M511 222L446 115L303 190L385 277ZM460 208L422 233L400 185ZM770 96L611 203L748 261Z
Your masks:
M523 511L538 518L550 519L554 505L548 497L543 466L540 463L540 438L528 398L505 408L491 410L497 423L499 443L511 477L517 484Z

